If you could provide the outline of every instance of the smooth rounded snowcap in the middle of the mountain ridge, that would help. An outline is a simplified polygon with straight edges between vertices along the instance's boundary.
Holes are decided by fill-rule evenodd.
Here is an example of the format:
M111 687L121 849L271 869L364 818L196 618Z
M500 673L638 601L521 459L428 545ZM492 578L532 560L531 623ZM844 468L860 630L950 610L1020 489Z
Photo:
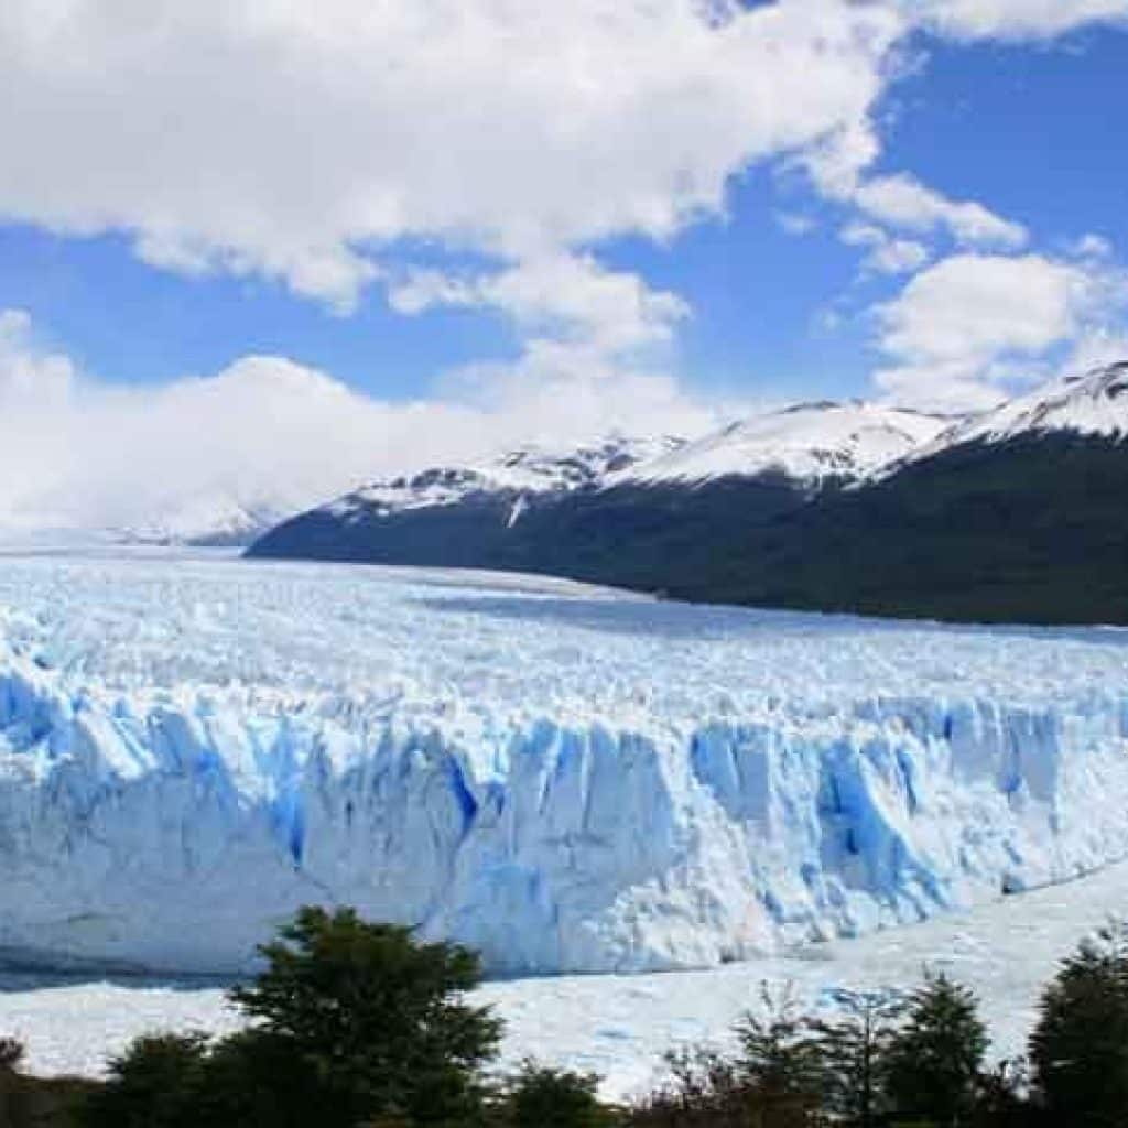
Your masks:
M769 474L810 485L856 482L934 440L949 422L858 400L796 404L732 423L620 472L610 484L700 484Z

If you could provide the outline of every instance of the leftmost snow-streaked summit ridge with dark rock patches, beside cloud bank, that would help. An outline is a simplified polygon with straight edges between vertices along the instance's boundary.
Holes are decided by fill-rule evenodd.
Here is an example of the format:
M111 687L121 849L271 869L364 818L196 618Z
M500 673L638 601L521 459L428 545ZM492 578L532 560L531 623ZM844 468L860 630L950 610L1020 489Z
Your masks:
M331 502L328 512L345 520L361 514L388 515L413 509L453 505L476 494L550 494L598 485L610 475L660 459L678 450L673 435L607 438L563 450L526 446L469 466L439 466L411 476L372 482Z

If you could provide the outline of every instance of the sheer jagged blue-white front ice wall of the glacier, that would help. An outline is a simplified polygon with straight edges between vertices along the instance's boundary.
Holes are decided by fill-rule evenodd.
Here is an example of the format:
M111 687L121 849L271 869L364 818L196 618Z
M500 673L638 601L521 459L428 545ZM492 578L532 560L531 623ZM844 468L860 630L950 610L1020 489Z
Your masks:
M8 960L238 970L318 901L499 972L708 967L1067 880L1126 810L1114 691L465 724L0 660Z

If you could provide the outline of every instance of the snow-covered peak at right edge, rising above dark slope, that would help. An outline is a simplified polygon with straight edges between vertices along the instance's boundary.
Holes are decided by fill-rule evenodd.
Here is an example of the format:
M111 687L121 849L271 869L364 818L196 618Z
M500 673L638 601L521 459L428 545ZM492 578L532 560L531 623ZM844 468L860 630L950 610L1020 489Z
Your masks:
M918 457L967 442L1001 443L1060 431L1114 442L1128 439L1128 361L1019 396L944 431Z

